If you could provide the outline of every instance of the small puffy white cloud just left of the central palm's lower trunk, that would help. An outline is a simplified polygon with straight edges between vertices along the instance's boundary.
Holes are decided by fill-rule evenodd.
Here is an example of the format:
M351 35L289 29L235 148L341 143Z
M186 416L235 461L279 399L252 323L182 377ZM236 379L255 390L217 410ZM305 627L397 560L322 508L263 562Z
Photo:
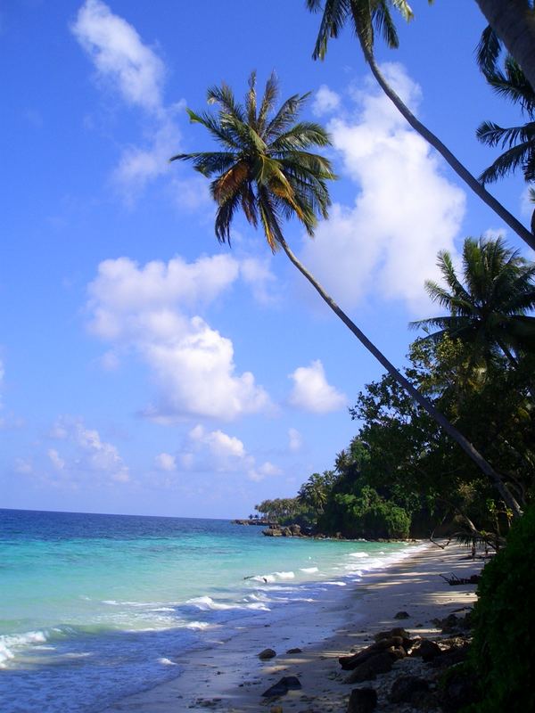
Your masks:
M293 381L289 402L295 408L313 414L328 414L347 405L345 394L327 383L325 370L319 359L309 366L300 366L289 376Z

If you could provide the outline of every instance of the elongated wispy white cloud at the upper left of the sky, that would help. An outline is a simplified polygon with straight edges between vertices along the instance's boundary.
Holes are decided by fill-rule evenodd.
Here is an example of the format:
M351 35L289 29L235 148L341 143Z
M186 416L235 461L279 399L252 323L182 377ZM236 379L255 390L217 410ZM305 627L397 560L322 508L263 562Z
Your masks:
M111 82L125 101L145 110L161 110L163 62L127 20L100 0L86 0L71 29L99 77Z

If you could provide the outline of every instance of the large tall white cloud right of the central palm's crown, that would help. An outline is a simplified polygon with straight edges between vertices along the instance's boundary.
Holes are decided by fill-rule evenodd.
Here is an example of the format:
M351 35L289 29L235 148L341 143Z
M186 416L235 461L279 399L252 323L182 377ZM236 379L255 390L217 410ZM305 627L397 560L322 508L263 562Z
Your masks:
M399 65L383 70L416 111L419 87ZM424 280L437 276L437 252L455 253L465 194L441 175L436 155L380 90L366 85L353 95L356 115L328 128L358 193L352 206L333 206L302 257L342 305L374 291L417 312L429 308Z

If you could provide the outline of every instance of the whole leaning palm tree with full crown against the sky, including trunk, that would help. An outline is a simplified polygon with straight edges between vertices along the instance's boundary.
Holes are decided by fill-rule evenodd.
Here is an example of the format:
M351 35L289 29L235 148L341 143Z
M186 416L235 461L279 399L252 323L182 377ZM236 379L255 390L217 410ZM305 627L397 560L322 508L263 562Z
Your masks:
M238 209L248 222L261 225L273 252L284 250L292 264L320 294L334 314L383 365L391 376L451 438L465 450L473 462L492 481L506 505L515 514L521 508L500 475L432 403L407 381L350 317L325 292L293 254L284 239L283 219L297 217L307 233L314 234L317 217L326 218L331 204L327 181L335 177L329 160L310 152L313 147L330 145L329 135L318 124L297 121L308 94L294 94L276 111L277 82L268 79L266 91L258 105L256 77L249 80L249 91L243 104L236 102L232 90L223 84L208 90L208 102L218 105L217 114L187 110L194 123L208 129L223 151L178 153L171 160L193 162L193 168L212 178L211 195L218 205L215 233L219 242L230 243L230 228Z

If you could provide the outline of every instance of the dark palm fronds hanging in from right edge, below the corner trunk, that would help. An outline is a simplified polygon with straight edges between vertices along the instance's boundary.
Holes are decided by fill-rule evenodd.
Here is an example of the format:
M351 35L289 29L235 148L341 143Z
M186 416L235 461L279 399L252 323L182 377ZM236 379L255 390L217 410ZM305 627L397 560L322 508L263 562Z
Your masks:
M506 149L479 177L481 183L491 183L498 178L522 168L525 181L535 180L535 92L514 59L506 57L504 70L495 68L485 72L490 86L497 94L520 104L530 121L520 127L500 127L493 121L483 121L476 135L488 146L501 145Z

